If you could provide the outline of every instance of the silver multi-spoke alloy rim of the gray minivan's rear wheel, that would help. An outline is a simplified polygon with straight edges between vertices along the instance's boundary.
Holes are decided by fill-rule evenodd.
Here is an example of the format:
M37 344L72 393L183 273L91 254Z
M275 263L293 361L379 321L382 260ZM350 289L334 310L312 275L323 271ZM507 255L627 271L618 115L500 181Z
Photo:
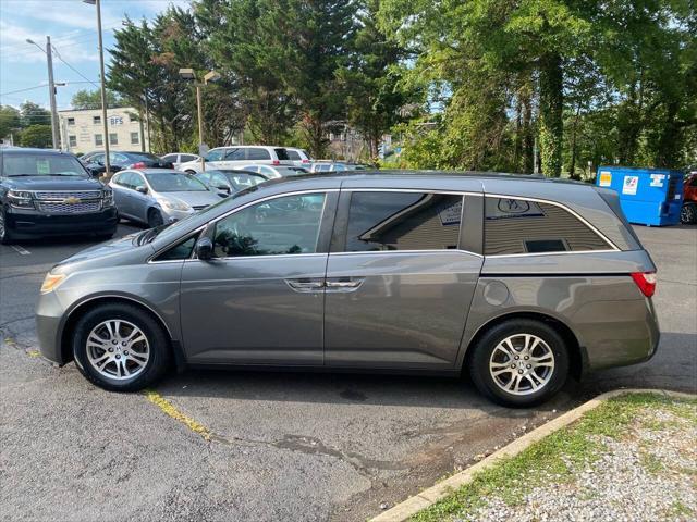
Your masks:
M536 335L511 335L491 352L489 373L505 393L530 395L542 389L552 378L554 353Z

